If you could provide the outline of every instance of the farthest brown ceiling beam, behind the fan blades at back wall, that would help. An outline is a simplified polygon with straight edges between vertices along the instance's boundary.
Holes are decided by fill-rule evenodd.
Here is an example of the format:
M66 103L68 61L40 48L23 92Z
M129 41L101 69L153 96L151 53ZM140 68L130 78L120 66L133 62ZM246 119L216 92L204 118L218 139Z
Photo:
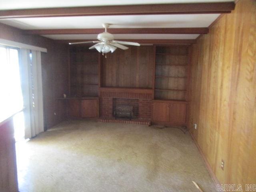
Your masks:
M140 44L194 44L196 39L116 39L119 41L129 41L137 42ZM74 43L74 42L84 42L84 41L95 41L90 39L80 39L80 40L55 40L58 43ZM94 43L92 43L94 44ZM85 44L84 44L85 45Z

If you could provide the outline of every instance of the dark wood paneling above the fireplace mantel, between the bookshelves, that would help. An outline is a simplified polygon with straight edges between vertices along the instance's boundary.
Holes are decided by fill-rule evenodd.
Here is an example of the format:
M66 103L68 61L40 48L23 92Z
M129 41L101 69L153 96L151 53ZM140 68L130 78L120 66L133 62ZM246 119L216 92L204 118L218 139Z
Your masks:
M117 49L102 58L102 85L106 87L152 88L153 46Z

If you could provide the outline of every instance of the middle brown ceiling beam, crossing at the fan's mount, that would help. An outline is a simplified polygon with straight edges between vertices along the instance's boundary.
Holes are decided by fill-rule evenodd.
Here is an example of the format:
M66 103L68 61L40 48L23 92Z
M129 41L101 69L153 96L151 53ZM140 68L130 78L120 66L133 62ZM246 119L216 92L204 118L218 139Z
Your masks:
M49 34L99 34L104 32L99 29L44 29L24 30L27 34L49 35ZM208 28L110 28L112 34L207 34Z

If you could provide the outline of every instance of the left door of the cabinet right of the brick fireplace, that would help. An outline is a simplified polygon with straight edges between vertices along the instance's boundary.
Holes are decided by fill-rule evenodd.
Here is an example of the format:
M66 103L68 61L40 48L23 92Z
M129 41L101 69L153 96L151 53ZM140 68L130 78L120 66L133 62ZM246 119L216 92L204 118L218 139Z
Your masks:
M169 121L169 104L164 102L153 102L153 121Z

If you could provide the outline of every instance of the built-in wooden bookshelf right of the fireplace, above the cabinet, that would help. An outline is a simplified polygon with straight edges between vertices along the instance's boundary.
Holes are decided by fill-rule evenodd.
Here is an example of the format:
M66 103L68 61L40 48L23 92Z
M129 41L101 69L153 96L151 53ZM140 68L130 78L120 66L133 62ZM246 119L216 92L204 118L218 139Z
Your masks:
M186 100L188 46L156 46L154 99Z

